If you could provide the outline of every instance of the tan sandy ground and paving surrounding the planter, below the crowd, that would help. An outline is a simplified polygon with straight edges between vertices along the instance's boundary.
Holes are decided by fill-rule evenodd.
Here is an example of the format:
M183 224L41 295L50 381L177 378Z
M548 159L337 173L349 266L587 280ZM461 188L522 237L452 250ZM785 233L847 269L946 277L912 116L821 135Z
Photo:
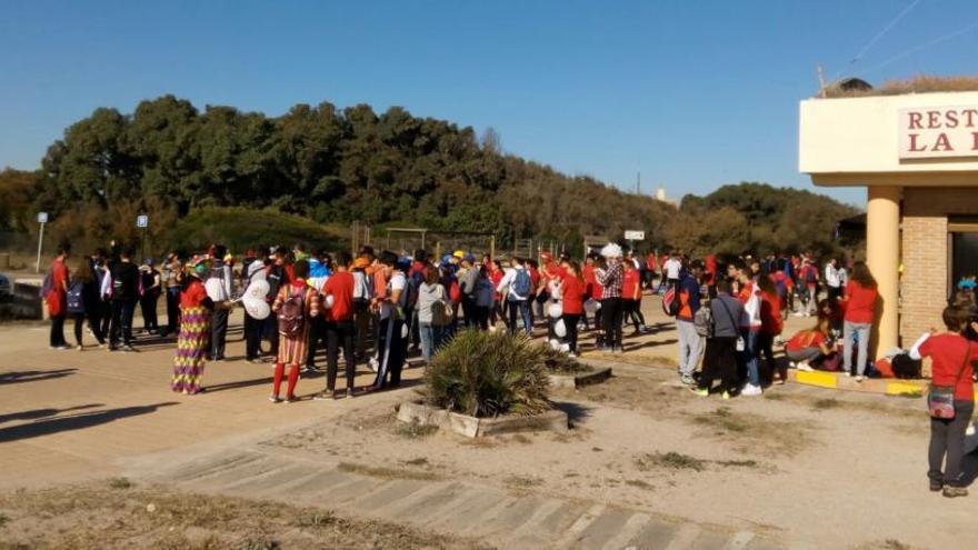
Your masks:
M228 361L208 367L211 392L188 398L167 386L172 344L136 354L52 352L46 326L3 326L0 489L104 480L152 468L142 458L162 451L189 458L248 441L391 476L477 479L749 528L798 548L978 544L976 497L927 491L919 399L800 386L756 399L698 398L651 366L675 354L675 332L656 301L646 302L649 323L661 330L627 340L616 377L553 396L571 431L475 441L398 424L395 407L411 389L273 406L265 400L267 366ZM788 331L808 323L792 319ZM229 356L242 354L238 338ZM587 348L585 357L612 359ZM361 369L358 384L370 379ZM302 380L299 392L321 384ZM969 456L972 477L976 462Z

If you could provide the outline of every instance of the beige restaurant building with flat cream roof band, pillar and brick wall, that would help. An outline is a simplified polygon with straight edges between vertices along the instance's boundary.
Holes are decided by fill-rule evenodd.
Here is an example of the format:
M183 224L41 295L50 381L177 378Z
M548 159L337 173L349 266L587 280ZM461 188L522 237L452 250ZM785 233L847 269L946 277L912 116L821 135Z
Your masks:
M867 188L877 354L941 328L957 280L978 274L978 92L802 101L799 168Z

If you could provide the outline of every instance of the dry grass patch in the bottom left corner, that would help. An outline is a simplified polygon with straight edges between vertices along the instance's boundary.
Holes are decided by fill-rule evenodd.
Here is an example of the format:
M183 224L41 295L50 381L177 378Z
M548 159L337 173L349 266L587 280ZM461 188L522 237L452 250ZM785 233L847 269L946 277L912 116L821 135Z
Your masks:
M4 491L0 548L103 550L343 548L485 549L470 539L326 509L200 494L140 483L124 498L107 481ZM149 512L148 504L156 511Z

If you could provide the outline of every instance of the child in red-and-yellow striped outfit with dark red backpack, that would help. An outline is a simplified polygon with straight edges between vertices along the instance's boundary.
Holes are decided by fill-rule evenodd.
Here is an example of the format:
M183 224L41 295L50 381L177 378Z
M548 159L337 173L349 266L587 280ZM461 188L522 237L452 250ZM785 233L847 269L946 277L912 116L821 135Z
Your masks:
M292 267L293 278L283 284L271 310L278 319L279 351L276 360L272 393L268 400L280 403L282 377L289 366L289 386L286 401L296 401L296 384L299 382L299 369L306 363L309 346L309 326L319 316L319 293L306 283L309 277L309 262L298 260Z

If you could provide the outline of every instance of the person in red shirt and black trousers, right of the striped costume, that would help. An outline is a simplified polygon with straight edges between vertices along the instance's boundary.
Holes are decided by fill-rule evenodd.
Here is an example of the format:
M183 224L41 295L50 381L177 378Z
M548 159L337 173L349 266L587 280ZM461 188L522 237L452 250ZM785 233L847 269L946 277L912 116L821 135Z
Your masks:
M347 397L353 397L353 377L357 360L353 357L353 273L350 272L349 252L336 256L336 271L322 287L323 317L326 318L326 391L312 397L315 400L337 399L336 378L340 346L347 364Z

